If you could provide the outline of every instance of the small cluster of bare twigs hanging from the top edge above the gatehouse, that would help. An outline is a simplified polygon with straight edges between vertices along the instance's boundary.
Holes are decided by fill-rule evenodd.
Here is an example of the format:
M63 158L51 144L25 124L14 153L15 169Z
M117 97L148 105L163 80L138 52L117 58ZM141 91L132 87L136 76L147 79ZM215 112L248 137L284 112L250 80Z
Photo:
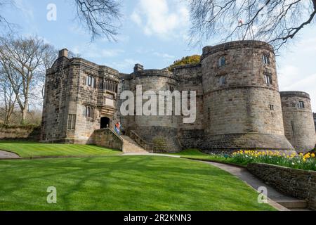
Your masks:
M116 0L75 0L77 18L91 32L91 39L105 35L116 40L120 4Z

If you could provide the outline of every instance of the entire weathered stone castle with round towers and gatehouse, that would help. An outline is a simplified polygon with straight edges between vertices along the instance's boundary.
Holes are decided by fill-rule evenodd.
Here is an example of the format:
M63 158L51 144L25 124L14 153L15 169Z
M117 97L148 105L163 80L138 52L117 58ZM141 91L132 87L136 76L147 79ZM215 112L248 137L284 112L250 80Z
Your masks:
M184 124L183 115L121 115L120 94L136 94L136 85L143 91L196 91L196 121ZM117 122L126 136L154 152L305 152L316 141L310 96L279 92L275 53L262 41L206 46L197 65L169 71L144 70L136 64L131 74L68 58L62 49L46 72L41 141L95 143L93 134L108 133L105 128ZM110 139L109 134L103 139Z

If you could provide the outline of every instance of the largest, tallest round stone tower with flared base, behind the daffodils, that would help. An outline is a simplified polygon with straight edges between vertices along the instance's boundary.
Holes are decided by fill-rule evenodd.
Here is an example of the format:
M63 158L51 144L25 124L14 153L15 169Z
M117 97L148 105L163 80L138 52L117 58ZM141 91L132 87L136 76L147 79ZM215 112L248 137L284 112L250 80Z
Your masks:
M284 136L275 53L262 41L206 46L204 150L291 150Z

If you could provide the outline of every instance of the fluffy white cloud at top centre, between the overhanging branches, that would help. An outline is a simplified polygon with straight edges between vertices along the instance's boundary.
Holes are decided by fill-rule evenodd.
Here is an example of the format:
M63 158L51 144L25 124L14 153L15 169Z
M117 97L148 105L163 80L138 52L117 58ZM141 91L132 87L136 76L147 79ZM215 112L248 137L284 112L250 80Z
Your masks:
M178 1L139 0L131 14L131 20L143 29L147 36L157 34L168 39L184 35L188 25L187 7Z

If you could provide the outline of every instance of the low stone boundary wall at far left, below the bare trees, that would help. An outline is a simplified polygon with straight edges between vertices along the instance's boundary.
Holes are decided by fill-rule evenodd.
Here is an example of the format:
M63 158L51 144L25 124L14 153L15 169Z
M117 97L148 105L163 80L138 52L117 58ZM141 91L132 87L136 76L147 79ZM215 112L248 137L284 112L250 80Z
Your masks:
M0 140L39 141L40 127L0 127Z

